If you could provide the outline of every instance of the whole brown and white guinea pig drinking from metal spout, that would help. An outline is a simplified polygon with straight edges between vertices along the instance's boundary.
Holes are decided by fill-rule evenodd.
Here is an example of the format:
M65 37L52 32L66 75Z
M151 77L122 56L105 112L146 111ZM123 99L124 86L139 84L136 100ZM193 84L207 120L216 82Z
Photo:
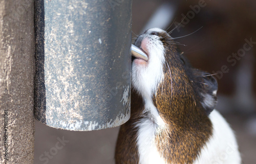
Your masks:
M148 61L132 63L131 119L116 144L116 163L241 163L236 138L214 110L218 84L191 67L161 29L138 36Z

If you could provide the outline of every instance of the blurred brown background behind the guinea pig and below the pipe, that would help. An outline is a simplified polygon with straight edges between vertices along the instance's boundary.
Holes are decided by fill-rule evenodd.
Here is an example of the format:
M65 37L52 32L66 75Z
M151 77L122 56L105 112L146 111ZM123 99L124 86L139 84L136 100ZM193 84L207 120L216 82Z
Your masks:
M191 65L218 73L217 110L249 164L256 161L255 9L253 0L133 0L133 37L153 27L172 31ZM34 163L115 163L118 130L68 131L36 121Z

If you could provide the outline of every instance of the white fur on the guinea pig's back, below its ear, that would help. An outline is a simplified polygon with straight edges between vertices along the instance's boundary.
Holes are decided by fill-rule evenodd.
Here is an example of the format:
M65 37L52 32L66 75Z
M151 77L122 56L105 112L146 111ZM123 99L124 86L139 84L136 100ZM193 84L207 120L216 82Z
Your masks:
M213 125L213 135L201 149L196 164L238 164L241 156L232 129L221 114L214 110L209 118Z

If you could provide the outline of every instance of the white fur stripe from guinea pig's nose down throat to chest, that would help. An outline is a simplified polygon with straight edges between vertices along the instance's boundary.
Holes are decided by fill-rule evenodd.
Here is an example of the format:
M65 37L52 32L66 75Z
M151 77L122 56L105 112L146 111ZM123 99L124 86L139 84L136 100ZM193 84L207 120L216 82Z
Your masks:
M138 128L137 146L140 163L165 163L160 156L155 145L155 136L157 133L165 129L165 123L159 116L157 108L152 101L153 94L156 93L157 86L164 78L163 65L164 47L163 43L152 32L164 32L161 29L154 28L147 30L146 34L142 34L140 39L143 46L146 46L148 54L148 63L146 65L134 63L132 65L132 83L135 89L142 95L145 103L145 110L148 112L148 118L143 118L136 123Z

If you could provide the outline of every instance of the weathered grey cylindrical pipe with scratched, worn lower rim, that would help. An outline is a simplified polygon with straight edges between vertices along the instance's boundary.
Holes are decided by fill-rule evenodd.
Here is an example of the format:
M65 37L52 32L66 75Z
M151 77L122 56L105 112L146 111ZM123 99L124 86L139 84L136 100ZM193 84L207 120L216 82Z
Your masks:
M68 130L130 118L132 1L35 1L35 118Z

